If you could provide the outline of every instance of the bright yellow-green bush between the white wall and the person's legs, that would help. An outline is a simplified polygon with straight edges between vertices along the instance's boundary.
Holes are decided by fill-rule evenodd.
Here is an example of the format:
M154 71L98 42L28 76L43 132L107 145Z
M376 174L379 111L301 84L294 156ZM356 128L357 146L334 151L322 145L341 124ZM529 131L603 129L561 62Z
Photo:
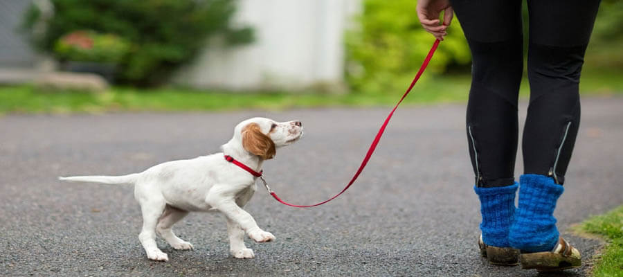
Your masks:
M416 1L365 0L359 28L346 34L346 78L355 91L401 93L435 38L419 24ZM426 75L468 64L469 47L458 20L435 52Z

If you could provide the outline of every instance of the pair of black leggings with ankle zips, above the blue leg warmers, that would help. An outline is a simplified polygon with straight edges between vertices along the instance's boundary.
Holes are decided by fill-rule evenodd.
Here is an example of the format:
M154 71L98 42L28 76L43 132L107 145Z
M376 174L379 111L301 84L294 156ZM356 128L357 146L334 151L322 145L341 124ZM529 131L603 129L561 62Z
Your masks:
M523 72L521 0L451 0L472 55L467 139L477 186L514 183ZM579 77L599 0L527 0L526 174L563 184L579 127Z

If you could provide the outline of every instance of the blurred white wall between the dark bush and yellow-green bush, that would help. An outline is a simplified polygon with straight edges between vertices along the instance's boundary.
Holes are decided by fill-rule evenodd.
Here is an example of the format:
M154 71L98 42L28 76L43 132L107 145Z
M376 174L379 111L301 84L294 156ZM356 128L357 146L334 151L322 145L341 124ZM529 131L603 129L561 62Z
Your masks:
M199 88L305 89L343 82L343 35L361 0L239 0L235 21L255 28L247 46L213 39L174 78Z

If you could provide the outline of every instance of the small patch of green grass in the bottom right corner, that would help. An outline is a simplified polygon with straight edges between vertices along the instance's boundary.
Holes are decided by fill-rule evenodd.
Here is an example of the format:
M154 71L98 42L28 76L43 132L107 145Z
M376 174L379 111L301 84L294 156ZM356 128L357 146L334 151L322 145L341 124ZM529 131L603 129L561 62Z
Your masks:
M595 262L596 277L623 276L623 206L586 220L576 231L599 235L608 245Z

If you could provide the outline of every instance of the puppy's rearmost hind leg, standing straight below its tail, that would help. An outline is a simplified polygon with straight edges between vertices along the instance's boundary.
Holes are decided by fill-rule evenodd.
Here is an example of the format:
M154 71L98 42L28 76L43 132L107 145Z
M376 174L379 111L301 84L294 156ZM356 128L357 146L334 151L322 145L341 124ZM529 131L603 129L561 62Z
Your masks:
M156 244L156 224L160 215L162 215L165 208L164 199L145 199L140 201L141 211L143 212L143 229L138 235L138 240L141 240L147 258L150 260L168 261L169 257L166 253L163 253L158 249Z

